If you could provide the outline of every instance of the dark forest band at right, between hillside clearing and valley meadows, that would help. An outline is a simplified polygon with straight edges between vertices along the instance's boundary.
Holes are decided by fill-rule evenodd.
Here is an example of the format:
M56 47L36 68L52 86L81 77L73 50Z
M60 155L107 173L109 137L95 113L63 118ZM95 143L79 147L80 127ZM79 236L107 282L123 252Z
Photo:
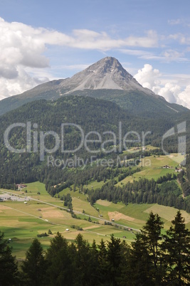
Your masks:
M176 175L168 174L157 181L140 178L138 181L128 182L116 186L111 180L99 189L87 189L90 203L93 205L98 199L112 201L113 203L158 203L163 206L174 206L190 212L190 197L181 196L181 189L176 183Z

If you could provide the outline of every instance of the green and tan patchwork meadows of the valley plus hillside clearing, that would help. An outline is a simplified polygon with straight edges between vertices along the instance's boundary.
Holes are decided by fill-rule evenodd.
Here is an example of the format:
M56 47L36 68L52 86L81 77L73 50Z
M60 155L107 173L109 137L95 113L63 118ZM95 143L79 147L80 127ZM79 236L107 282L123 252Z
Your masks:
M174 154L172 156L144 158L144 161L141 162L142 171L125 178L118 184L125 184L127 181L133 181L141 177L157 179L169 172L173 173L175 166L178 166L178 162ZM163 169L166 164L170 166L169 169ZM92 187L99 188L103 184L103 181L91 181L88 183L88 189ZM58 231L68 240L74 240L78 233L82 233L90 243L93 242L93 239L100 243L102 238L109 240L110 235L113 233L115 237L126 239L128 243L131 243L135 238L136 231L130 230L130 228L137 230L142 228L149 217L150 211L161 216L162 221L164 221L164 231L169 228L171 220L176 215L176 209L157 204L129 204L125 206L122 203L115 204L98 200L93 207L88 202L88 196L81 194L78 188L75 191L70 191L67 188L61 191L59 196L68 193L72 196L73 209L78 211L75 214L80 218L75 219L72 218L69 212L61 209L63 201L60 201L58 196L52 198L47 193L45 185L40 182L27 184L27 187L22 191L1 189L0 193L4 194L5 191L14 194L14 196L28 199L27 203L24 203L24 201L4 201L0 203L0 230L5 233L7 239L11 238L10 244L13 247L14 255L18 259L24 258L26 250L36 235L48 233L49 229L53 233L52 235L39 238L44 249L48 247L51 238ZM190 228L190 215L185 211L181 211L181 213L186 219L186 226ZM91 222L88 221L87 215L90 216ZM112 222L112 219L114 219L114 222ZM104 220L112 222L112 226L105 225ZM115 223L120 226L115 226ZM72 225L80 226L83 231L76 231L75 228L71 228ZM69 229L69 231L66 231L66 229Z

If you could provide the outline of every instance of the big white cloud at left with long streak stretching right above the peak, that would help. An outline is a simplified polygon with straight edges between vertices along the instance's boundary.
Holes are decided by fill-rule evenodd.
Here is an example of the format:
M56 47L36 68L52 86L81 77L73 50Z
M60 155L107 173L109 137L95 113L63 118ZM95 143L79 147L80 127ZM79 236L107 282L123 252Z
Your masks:
M34 28L0 18L0 100L33 88L47 81L35 78L31 70L46 69L49 60L44 55L48 45L108 51L126 46L157 46L157 33L147 31L142 37L111 38L107 33L87 29L73 30L70 35L47 28ZM52 79L52 77L51 77Z

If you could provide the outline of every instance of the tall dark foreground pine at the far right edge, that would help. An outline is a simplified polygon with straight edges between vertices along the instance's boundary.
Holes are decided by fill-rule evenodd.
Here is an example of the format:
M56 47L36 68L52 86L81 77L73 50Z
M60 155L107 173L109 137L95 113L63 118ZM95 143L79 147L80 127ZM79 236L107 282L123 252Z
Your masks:
M190 231L186 228L184 218L178 211L172 226L164 235L162 248L166 251L164 259L168 265L167 285L182 286L190 284Z

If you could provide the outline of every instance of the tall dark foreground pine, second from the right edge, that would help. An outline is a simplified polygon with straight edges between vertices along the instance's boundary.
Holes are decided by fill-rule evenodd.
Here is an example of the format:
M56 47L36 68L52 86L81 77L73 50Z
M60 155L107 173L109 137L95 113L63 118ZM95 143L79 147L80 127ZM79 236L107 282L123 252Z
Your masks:
M150 213L141 233L137 233L130 258L131 272L134 273L132 285L161 285L164 267L160 257L162 249L161 231L163 222L157 214Z

